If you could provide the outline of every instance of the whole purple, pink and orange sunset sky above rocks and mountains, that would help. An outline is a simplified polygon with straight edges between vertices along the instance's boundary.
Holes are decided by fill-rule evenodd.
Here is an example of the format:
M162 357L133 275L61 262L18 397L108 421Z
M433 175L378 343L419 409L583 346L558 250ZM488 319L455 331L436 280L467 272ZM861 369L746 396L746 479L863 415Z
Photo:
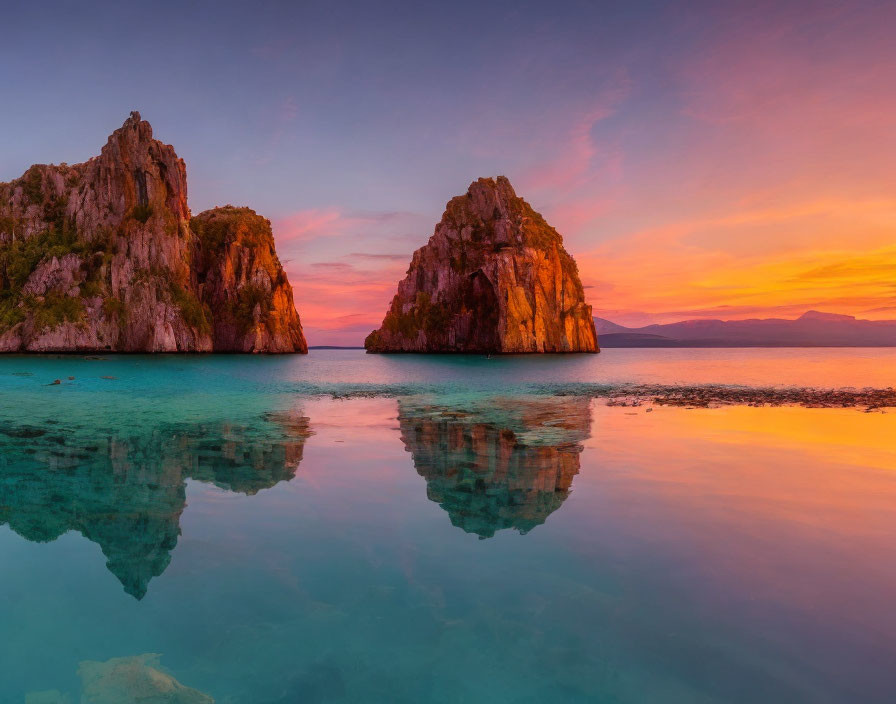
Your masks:
M596 315L896 318L893 2L45 2L3 26L0 181L140 110L194 213L271 219L310 344L359 344L497 174Z

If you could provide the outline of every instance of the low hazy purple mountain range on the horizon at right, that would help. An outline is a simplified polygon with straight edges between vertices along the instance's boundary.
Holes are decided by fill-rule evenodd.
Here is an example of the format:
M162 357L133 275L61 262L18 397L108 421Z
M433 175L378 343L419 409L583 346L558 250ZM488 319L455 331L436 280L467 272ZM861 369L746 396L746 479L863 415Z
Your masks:
M601 347L896 347L896 320L810 310L796 320L684 320L627 328L594 319Z

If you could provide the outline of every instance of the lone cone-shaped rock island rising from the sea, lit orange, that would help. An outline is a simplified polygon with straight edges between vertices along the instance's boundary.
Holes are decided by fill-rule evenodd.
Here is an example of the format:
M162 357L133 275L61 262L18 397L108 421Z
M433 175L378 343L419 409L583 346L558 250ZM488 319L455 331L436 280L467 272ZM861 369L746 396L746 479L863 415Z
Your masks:
M448 202L368 352L597 352L591 306L559 233L505 177Z

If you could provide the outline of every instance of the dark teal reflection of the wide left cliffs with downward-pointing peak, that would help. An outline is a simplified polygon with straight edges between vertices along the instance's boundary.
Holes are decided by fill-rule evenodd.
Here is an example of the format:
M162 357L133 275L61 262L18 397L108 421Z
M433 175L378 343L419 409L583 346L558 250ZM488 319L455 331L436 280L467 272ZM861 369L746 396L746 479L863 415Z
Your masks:
M140 599L171 560L187 479L255 494L293 478L309 434L298 413L145 432L4 423L0 526L36 542L83 534Z

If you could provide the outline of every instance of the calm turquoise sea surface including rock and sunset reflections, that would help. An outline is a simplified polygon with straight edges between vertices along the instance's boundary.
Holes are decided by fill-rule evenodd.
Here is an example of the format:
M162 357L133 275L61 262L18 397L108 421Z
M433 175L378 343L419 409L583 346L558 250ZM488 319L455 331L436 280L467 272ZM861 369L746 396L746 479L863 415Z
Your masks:
M892 701L896 413L550 389L894 361L0 358L0 702L147 653L218 702Z

